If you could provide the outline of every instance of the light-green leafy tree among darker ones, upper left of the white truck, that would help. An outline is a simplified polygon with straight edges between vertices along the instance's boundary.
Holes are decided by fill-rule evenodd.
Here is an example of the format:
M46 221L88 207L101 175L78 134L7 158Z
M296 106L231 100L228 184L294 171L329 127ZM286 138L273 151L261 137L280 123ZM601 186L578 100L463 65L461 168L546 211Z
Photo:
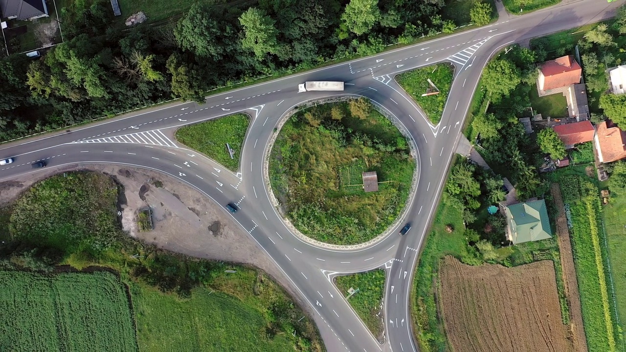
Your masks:
M244 48L252 49L257 58L276 53L279 44L274 19L260 9L249 8L239 17L239 23L244 27L245 35L241 42Z

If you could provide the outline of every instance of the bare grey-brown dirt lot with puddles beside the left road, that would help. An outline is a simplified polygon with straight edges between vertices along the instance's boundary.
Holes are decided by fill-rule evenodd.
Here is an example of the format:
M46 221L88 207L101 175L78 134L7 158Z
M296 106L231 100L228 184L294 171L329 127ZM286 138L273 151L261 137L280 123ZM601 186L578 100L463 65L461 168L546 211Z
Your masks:
M106 173L124 186L126 200L121 205L122 225L130 236L189 256L260 267L285 287L292 298L300 300L300 295L296 294L289 279L221 207L191 187L158 172L115 165L54 168L31 174L28 180L1 182L0 207L12 202L34 182L59 172L74 170ZM146 206L153 211L155 228L149 232L139 232L135 221L136 212ZM305 302L300 301L300 304L305 309L309 308Z

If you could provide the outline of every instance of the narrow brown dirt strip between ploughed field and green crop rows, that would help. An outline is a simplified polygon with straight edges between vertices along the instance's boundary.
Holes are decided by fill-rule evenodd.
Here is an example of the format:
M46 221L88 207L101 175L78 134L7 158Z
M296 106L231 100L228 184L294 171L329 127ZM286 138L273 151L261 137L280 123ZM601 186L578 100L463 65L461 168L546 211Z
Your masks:
M558 184L552 184L552 197L557 205L557 240L558 249L561 252L561 266L563 267L563 281L565 282L565 295L570 307L570 329L574 337L576 351L587 351L587 339L583 328L583 315L580 310L580 295L578 294L578 281L572 255L572 242L570 231L567 228L563 197Z

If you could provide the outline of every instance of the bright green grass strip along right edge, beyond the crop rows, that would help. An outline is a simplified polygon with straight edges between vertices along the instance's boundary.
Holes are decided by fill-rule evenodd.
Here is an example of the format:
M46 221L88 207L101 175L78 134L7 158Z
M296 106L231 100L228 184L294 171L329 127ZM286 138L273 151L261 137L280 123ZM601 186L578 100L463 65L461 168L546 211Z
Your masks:
M611 264L613 291L620 319L620 334L626 326L623 317L626 316L626 190L611 189L610 201L602 212L605 229L607 231L607 253Z

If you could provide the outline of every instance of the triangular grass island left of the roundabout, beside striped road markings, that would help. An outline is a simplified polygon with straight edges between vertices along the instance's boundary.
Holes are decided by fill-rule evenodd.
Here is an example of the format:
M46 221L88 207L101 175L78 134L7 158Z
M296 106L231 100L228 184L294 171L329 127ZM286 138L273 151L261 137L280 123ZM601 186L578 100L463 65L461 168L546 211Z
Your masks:
M250 116L238 113L178 128L175 136L178 142L207 155L228 170L237 172L249 124ZM234 150L232 159L226 143Z

